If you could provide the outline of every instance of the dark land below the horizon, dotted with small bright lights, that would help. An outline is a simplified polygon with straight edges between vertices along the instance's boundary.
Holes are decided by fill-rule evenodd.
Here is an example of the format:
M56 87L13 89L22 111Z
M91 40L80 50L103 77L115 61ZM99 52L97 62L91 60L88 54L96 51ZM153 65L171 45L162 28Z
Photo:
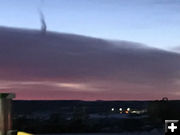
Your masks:
M13 128L35 134L161 135L165 119L180 118L179 106L180 101L14 101Z

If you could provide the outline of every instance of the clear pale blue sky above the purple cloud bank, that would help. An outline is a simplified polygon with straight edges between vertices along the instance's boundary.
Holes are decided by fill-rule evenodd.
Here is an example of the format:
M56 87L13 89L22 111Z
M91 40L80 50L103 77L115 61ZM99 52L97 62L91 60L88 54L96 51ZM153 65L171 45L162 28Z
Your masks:
M0 25L127 40L174 49L180 45L179 0L1 0Z

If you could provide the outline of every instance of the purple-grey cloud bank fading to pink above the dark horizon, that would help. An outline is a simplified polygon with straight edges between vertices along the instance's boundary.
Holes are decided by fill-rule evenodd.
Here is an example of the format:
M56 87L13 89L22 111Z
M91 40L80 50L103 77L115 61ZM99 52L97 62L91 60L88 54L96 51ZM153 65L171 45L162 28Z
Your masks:
M177 99L180 54L128 41L1 27L0 80L21 99Z

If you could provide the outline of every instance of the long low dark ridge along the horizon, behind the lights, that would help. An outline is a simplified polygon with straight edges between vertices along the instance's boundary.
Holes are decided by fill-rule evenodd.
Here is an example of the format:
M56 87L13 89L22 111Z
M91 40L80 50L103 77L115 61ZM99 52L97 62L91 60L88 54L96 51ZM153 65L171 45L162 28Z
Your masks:
M36 113L36 112L61 112L73 111L74 107L85 107L88 112L110 111L111 108L147 108L148 101L13 101L13 112L16 114Z

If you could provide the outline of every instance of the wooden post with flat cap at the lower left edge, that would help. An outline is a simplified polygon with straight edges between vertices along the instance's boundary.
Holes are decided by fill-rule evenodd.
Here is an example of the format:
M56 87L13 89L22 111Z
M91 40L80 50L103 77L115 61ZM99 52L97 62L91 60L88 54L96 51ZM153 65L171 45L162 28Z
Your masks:
M0 93L0 135L7 135L12 130L11 103L15 98L12 93Z

